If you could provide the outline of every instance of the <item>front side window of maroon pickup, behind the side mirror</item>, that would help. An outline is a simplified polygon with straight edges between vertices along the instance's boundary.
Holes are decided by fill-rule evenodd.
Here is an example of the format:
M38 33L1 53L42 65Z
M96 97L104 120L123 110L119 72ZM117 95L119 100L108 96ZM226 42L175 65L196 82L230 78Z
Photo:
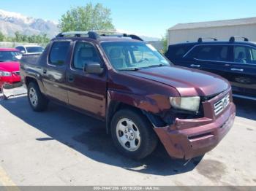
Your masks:
M72 67L83 70L84 66L90 63L100 63L96 48L89 42L77 42L75 44Z

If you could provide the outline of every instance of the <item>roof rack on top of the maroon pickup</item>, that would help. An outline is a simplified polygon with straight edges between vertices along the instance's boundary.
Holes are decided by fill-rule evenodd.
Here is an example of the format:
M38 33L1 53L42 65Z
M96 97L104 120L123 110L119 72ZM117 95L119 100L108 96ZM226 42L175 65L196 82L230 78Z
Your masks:
M64 36L88 36L91 39L99 39L100 36L116 36L116 37L129 37L131 39L136 39L139 41L143 41L139 36L135 34L125 34L120 33L117 31L70 31L70 32L63 32L56 36L56 38L63 38Z

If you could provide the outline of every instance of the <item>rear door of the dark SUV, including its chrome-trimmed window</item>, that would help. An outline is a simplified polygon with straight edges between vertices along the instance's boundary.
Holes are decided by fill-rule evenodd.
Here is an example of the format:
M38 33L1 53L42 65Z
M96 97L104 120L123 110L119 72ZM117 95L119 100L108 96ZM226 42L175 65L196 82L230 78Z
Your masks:
M232 46L229 44L197 45L185 57L190 60L189 67L201 69L230 79Z

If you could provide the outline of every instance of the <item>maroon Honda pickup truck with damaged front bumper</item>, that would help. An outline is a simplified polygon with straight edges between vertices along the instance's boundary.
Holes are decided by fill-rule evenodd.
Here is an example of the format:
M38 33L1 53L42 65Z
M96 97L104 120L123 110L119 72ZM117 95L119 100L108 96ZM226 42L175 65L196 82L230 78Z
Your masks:
M57 101L97 117L134 159L150 155L158 141L171 157L204 155L236 116L227 80L173 66L135 35L61 33L42 55L24 55L20 70L34 111Z

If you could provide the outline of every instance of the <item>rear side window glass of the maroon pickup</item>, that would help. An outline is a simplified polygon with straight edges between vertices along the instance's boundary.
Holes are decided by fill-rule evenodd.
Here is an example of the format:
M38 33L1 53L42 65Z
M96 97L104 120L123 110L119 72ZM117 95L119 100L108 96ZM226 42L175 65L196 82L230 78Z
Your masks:
M49 62L56 66L61 66L67 59L70 42L53 42L50 50Z

